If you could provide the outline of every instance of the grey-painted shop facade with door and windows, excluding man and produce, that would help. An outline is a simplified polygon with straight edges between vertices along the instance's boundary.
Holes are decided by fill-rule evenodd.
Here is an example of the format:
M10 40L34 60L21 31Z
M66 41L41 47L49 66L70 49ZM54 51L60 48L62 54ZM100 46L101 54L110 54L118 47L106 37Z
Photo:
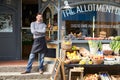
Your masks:
M42 12L43 21L51 24L46 39L49 48L55 48L55 57L60 56L63 37L71 32L82 32L84 38L98 37L100 31L105 31L106 37L120 36L119 0L67 1L72 8L65 9L63 0L0 0L0 60L21 60L28 56L32 45L30 22L37 12ZM89 49L87 42L72 39L74 45Z

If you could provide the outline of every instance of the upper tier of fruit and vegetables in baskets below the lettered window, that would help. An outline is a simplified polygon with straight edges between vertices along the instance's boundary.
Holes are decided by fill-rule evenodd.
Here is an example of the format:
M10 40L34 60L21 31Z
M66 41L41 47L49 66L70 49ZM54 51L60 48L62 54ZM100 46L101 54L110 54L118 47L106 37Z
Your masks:
M84 47L72 45L71 41L63 41L62 49L65 50L65 64L120 64L119 54L113 55L114 50L120 49L119 37L115 37L110 44L102 44L101 41L89 40L90 51ZM68 48L67 48L68 47ZM65 49L66 48L66 49ZM113 58L114 57L114 58Z

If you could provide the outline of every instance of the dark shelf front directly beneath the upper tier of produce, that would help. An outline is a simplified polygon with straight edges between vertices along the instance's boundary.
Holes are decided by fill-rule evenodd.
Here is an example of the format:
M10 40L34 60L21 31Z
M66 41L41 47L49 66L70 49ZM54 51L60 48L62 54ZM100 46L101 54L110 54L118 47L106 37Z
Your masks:
M107 72L111 75L118 75L120 74L120 64L116 65L80 65L80 64L65 64L64 65L66 70L70 70L73 67L84 67L84 74L94 74L99 72Z

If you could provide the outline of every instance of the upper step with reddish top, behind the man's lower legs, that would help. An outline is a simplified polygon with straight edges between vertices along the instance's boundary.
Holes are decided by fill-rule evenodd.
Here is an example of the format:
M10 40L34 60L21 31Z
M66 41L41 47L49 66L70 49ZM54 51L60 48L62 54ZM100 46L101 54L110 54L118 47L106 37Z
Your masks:
M21 71L25 71L27 63L25 64L9 64L9 65L0 65L0 72L21 72ZM51 72L52 68L54 66L54 61L48 61L45 60L44 62L44 69L46 72ZM32 66L32 70L31 72L38 72L38 62L35 61L33 66Z

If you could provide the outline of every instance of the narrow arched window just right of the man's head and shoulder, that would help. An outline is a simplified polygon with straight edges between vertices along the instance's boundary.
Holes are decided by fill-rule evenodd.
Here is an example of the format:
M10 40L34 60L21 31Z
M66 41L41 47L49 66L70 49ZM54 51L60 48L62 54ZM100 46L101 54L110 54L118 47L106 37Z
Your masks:
M47 41L57 40L57 13L53 5L48 4L48 7L43 11L43 22L47 25Z

